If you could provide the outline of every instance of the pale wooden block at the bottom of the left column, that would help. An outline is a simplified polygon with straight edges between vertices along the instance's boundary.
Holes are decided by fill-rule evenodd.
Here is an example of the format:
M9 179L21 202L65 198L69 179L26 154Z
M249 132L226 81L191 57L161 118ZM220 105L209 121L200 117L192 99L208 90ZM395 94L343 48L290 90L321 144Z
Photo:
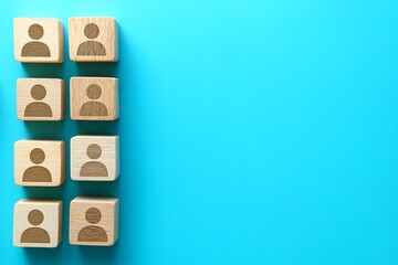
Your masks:
M14 206L13 245L56 247L62 240L62 201L21 200Z

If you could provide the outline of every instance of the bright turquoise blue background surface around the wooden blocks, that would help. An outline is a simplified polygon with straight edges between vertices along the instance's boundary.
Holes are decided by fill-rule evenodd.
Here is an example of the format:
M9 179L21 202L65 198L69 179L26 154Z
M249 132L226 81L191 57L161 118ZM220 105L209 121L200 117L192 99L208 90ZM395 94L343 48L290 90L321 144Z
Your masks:
M0 3L1 264L398 264L398 2ZM117 64L21 64L12 19L115 17ZM67 46L65 46L67 50ZM18 77L118 76L116 123L23 123ZM69 96L66 98L69 105ZM115 183L13 184L13 142L121 136ZM69 166L69 163L67 163ZM69 170L67 170L69 172ZM69 173L67 173L69 177ZM12 246L22 198L121 198L109 248Z

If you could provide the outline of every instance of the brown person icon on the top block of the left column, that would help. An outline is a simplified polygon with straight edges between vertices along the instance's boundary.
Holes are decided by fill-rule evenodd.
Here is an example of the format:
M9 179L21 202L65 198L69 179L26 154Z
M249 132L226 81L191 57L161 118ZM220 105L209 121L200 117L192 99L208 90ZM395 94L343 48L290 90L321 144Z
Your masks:
M44 35L44 29L40 24L32 24L28 30L29 36L34 40L23 45L22 57L50 57L50 49L43 42L38 40Z

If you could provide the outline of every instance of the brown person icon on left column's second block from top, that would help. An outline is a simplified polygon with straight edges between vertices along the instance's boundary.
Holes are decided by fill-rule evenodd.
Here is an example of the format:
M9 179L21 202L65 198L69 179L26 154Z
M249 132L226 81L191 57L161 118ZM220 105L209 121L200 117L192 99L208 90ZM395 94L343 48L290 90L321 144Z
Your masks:
M46 89L44 86L38 84L32 87L31 96L36 102L30 103L27 106L24 110L25 117L52 117L51 107L43 102L39 102L43 99L45 95Z

